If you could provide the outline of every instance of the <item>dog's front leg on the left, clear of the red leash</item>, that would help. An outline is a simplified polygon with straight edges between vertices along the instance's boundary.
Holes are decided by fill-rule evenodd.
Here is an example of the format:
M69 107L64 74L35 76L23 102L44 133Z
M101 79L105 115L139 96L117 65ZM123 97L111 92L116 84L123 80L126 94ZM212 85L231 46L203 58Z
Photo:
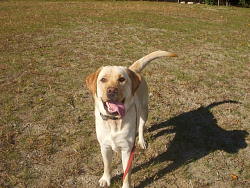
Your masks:
M110 147L101 146L101 153L103 158L104 173L99 180L99 183L101 187L109 187L111 180L111 163L113 151Z

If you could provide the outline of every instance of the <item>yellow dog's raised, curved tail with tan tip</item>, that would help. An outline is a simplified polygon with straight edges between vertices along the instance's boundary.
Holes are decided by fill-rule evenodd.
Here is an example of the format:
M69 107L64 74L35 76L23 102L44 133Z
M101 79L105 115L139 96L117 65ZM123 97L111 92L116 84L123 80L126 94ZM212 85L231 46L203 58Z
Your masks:
M146 66L148 63L150 63L152 60L159 58L159 57L176 57L177 55L175 53L172 52L166 52L166 51L155 51L152 52L144 57L142 57L141 59L137 60L136 62L134 62L129 69L140 73Z

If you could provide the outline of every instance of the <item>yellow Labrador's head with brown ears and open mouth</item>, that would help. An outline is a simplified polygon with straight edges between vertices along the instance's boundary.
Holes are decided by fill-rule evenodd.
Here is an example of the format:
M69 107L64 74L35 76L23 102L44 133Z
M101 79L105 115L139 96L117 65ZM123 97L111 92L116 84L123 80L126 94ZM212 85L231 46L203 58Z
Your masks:
M101 113L120 116L124 116L140 82L139 74L121 66L99 68L86 79Z

